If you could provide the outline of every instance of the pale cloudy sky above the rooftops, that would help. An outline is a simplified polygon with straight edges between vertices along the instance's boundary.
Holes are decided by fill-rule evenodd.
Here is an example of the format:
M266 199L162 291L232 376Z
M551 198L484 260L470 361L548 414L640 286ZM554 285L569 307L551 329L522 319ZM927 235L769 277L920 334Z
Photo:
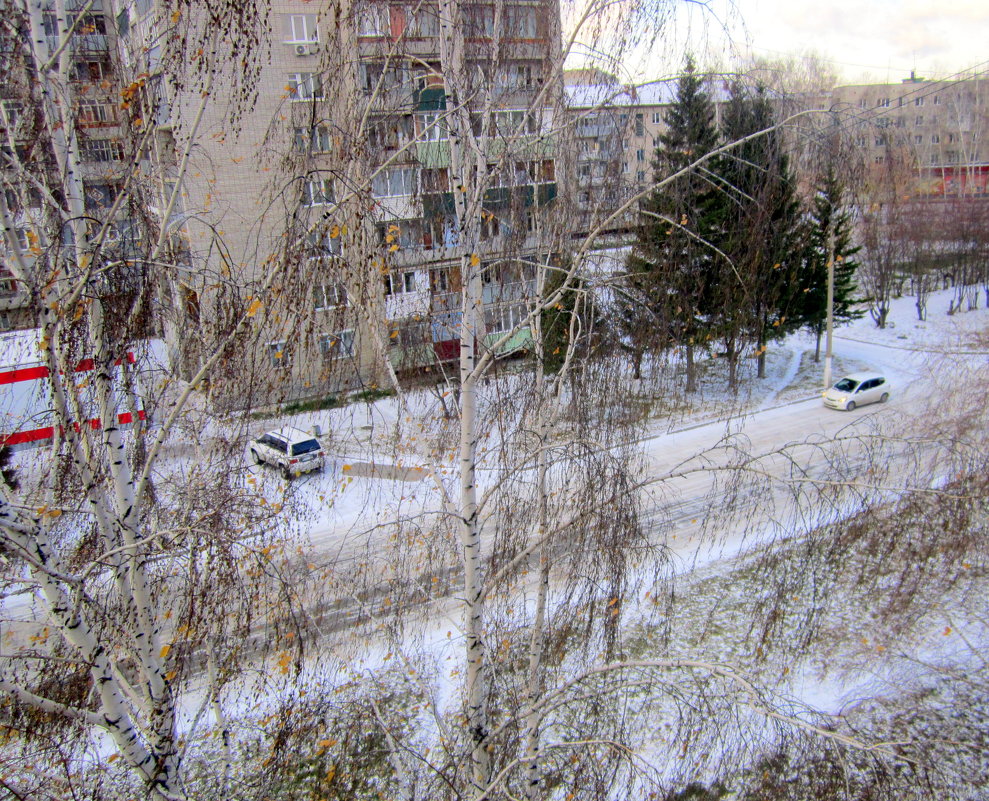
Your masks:
M713 54L724 66L750 49L769 58L813 51L840 83L898 82L911 70L925 78L989 71L989 0L676 2L675 36L664 36L662 52L654 45L644 63L628 64L640 80L675 72L687 50L700 64Z

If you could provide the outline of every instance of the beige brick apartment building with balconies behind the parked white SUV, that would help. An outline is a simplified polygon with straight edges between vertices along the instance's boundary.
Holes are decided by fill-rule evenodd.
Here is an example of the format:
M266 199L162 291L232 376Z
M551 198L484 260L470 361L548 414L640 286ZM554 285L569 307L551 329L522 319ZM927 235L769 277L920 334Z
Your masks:
M168 21L153 0L121 13L131 57L147 58ZM292 308L258 313L251 356L273 398L445 369L460 352L465 264L482 279L480 347L498 341L509 353L531 337L522 328L501 341L527 313L534 265L550 257L559 10L555 0L499 2L497 13L477 2L462 17L443 41L432 3L274 0L257 99L237 110L236 128L219 96L197 116L197 92L162 86L174 161L198 124L177 225L191 262L219 259L222 236L217 269L249 295L273 260L295 259L275 287ZM451 36L462 37L457 75ZM452 174L454 147L469 154L477 194L459 215L468 181ZM177 284L175 306L196 319L171 345L187 354L224 298L193 271Z

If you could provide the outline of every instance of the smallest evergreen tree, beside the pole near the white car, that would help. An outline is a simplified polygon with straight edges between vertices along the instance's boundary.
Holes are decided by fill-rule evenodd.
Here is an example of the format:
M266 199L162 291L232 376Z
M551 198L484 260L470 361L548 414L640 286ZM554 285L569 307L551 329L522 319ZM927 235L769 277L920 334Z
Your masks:
M855 306L855 272L857 246L852 245L851 215L843 207L844 188L834 168L821 175L811 208L807 258L800 277L800 322L815 336L814 361L821 357L821 336L828 318L828 261L834 259L833 316L836 325L857 320L863 315ZM833 250L832 250L833 248Z

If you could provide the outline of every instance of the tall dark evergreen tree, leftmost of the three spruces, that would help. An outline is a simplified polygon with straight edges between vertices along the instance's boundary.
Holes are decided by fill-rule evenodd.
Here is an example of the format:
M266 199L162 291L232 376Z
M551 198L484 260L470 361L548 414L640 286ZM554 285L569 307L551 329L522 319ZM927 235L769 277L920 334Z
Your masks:
M710 153L718 142L714 106L688 57L659 137L656 182ZM681 345L687 362L687 391L696 389L694 347L706 337L712 264L724 215L724 197L703 168L654 191L640 204L638 242L628 260L622 316L636 353L636 376L646 349Z

